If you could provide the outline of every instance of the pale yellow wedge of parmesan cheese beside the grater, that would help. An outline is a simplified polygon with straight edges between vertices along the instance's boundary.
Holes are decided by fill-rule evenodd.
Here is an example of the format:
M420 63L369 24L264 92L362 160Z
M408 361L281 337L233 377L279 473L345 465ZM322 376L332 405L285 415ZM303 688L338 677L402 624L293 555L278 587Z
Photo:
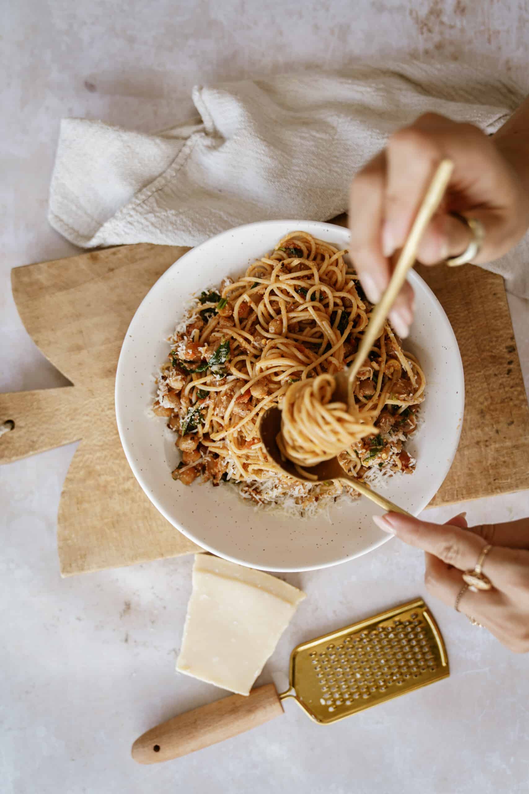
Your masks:
M268 573L197 554L176 669L247 695L304 598Z

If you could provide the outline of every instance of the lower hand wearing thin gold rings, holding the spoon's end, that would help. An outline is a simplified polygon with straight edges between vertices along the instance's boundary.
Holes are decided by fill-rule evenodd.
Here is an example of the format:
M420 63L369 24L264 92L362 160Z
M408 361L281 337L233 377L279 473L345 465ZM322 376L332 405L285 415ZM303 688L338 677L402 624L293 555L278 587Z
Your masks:
M462 515L439 526L387 513L376 516L374 522L405 543L424 549L426 588L449 607L454 607L465 584L462 572L472 570L481 549L491 544L483 573L493 588L466 590L459 611L475 618L515 653L529 651L529 518L467 528Z

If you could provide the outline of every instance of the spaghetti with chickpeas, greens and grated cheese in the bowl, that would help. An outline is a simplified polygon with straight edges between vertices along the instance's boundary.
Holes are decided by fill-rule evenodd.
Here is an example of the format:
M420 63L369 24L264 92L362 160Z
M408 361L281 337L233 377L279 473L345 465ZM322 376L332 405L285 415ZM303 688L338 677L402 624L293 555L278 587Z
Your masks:
M321 414L312 430L334 434L336 449L347 447L339 456L347 472L369 479L375 471L412 471L403 444L416 427L424 373L387 323L358 372L355 412L331 400L330 376L355 357L372 309L346 254L292 232L239 279L224 279L219 291L195 300L169 340L153 407L178 433L182 461L174 479L229 480L259 504L297 510L350 492L336 482L297 482L267 457L260 418L273 405L294 412L295 395L302 400L291 441L305 445L305 465L318 453L316 437L303 432L316 400Z

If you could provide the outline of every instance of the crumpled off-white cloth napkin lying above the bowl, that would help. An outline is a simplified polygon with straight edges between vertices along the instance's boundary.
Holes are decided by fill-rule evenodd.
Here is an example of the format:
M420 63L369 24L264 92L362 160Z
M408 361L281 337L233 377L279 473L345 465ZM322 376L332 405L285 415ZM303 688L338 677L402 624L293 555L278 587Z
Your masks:
M435 110L493 133L522 98L470 66L412 63L196 87L200 120L153 135L64 119L49 222L93 248L197 245L271 218L327 221L347 210L351 176L394 129ZM489 268L529 297L529 240Z

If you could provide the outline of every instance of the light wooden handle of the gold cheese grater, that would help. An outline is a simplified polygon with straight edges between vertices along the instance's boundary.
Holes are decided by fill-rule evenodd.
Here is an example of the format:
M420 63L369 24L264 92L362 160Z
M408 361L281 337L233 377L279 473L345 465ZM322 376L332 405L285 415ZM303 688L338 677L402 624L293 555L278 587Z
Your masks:
M224 742L282 713L277 689L274 684L265 684L252 689L248 696L232 695L151 728L132 745L132 758L139 764L171 761Z

